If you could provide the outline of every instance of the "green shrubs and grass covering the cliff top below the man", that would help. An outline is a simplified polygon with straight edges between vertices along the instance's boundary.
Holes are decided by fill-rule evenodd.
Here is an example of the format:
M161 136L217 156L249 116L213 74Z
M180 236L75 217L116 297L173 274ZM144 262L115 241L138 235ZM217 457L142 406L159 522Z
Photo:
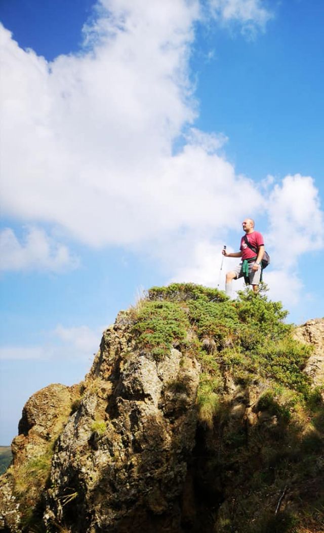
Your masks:
M291 337L292 326L284 322L288 312L264 293L265 287L258 295L246 290L233 302L199 285L153 287L137 314L132 331L139 348L163 357L174 346L201 362L198 406L206 422L209 413L210 424L226 372L236 384L263 377L301 393L301 399L310 393L303 368L311 348Z

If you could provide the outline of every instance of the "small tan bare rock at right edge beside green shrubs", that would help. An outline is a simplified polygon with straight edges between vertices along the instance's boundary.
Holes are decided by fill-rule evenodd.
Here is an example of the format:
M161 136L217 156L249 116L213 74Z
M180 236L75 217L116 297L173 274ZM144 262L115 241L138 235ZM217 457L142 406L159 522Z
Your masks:
M313 381L314 386L324 383L324 318L308 320L295 330L295 338L314 346L314 353L309 358L305 372Z

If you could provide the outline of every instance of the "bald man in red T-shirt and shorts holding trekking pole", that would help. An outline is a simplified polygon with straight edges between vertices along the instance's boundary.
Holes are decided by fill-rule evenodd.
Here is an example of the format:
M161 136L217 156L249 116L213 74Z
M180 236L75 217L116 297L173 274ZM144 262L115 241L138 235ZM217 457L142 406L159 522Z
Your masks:
M232 294L232 280L239 279L244 276L247 285L252 285L253 291L256 294L258 292L258 286L261 279L261 261L264 255L264 241L261 233L254 230L254 220L245 219L242 222L243 231L245 235L241 238L240 251L233 254L228 254L224 249L222 254L225 257L241 257L241 263L233 270L226 273L226 294L231 296ZM256 249L254 252L246 243L253 246Z

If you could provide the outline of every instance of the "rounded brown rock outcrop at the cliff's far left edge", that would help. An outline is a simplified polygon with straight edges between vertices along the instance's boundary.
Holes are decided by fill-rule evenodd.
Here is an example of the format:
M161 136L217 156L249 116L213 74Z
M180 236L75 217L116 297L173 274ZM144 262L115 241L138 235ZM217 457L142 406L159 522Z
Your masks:
M75 394L76 387L52 384L26 402L19 435L11 445L13 464L0 482L2 530L21 531L30 509L37 507L50 470L51 448L68 419Z

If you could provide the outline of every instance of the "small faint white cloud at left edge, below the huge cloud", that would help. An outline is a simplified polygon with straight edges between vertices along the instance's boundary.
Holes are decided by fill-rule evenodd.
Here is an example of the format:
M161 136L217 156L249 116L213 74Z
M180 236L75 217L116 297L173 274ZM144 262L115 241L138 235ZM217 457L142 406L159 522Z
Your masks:
M78 260L69 249L48 237L42 229L29 228L20 243L10 228L0 232L0 270L50 270L62 272L74 269Z

